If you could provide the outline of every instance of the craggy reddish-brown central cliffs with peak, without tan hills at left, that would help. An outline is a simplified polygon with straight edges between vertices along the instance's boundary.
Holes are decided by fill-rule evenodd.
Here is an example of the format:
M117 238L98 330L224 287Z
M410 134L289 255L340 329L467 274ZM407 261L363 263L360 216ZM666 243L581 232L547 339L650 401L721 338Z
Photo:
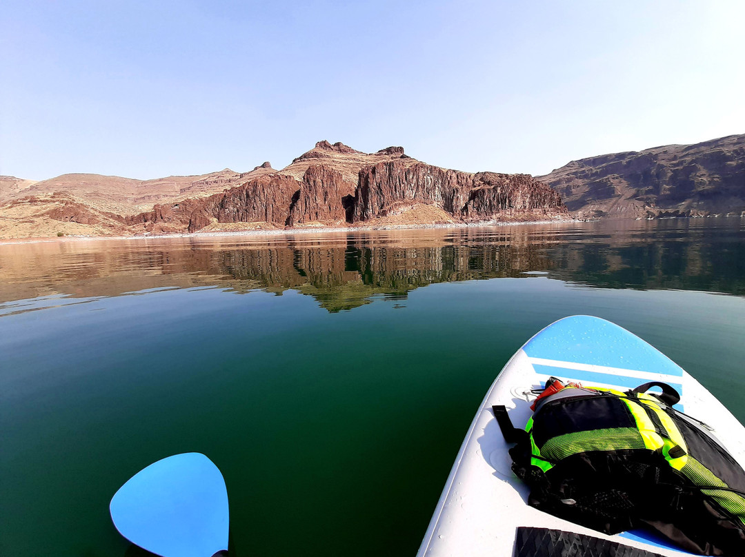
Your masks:
M305 161L302 174L299 160ZM406 211L417 209L421 216L422 206L434 207L448 222L530 220L566 213L558 194L527 174L452 171L411 159L402 147L368 155L319 141L288 168L294 169L292 175L264 174L221 194L156 205L127 223L148 231L157 225L158 230L165 226L168 231L181 227L196 232L215 222L340 226L402 215L405 223ZM355 177L354 183L349 176Z

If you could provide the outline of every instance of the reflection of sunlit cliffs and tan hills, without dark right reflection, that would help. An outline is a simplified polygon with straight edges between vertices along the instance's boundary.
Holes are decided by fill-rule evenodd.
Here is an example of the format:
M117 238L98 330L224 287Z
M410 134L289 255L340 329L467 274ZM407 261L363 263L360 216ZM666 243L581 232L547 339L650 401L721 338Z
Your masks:
M162 287L216 286L246 293L293 289L335 312L375 297L405 299L428 284L547 270L545 242L528 232L484 238L458 231L426 238L343 235L252 244L205 241L29 244L0 249L0 302L63 293L117 296Z

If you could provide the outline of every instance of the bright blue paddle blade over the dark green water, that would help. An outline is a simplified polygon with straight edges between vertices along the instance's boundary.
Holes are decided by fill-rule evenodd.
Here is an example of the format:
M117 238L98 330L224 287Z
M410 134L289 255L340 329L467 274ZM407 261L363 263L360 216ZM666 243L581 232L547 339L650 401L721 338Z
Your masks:
M161 557L212 557L228 547L228 492L201 453L154 462L119 488L109 506L119 533Z

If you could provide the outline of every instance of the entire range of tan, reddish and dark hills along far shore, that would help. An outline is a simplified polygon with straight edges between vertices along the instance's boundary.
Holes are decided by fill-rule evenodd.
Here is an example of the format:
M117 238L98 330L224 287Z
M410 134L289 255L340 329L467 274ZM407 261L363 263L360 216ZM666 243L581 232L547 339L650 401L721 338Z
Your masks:
M0 238L720 214L745 215L745 135L592 156L537 179L325 140L279 171L0 176Z

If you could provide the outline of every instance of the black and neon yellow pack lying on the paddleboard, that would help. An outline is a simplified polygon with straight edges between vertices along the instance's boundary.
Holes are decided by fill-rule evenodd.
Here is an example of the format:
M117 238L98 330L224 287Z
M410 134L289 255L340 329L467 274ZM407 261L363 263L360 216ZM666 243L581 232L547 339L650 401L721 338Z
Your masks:
M745 471L710 428L673 409L673 387L551 380L524 432L494 407L531 506L607 534L646 526L691 553L745 556Z

